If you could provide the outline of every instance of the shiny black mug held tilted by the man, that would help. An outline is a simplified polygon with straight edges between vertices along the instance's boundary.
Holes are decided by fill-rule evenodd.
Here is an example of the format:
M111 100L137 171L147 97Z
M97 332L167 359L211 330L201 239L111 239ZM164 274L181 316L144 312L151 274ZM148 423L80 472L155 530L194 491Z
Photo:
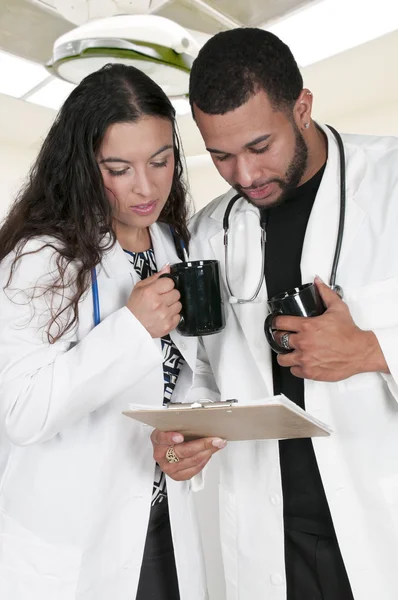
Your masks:
M317 317L326 307L314 283L304 283L268 300L269 315L265 319L264 333L268 344L277 354L291 352L282 348L274 338L272 323L278 315L291 317Z

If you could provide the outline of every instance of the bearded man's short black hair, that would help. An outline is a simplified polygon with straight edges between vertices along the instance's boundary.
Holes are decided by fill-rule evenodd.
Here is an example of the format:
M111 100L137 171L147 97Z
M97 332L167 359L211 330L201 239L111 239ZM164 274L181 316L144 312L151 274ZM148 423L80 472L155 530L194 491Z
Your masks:
M223 115L264 90L276 110L290 111L303 78L290 48L276 35L256 28L222 31L195 59L189 85L191 108Z

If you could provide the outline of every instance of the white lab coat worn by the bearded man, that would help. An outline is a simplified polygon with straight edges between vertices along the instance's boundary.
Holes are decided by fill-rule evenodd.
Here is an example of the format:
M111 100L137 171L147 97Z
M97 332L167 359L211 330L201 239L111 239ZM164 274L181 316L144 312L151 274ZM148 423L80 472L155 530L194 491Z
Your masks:
M305 235L302 281L329 281L339 218L337 145L329 156ZM305 381L305 403L329 424L313 440L355 600L398 598L398 141L344 136L347 210L337 283L357 325L373 330L391 375L338 383ZM220 260L227 322L204 338L223 400L271 396L263 331L267 291L228 304L222 219L226 194L195 215L193 255ZM244 200L230 217L233 293L248 298L261 274L258 210ZM281 239L283 244L283 239ZM220 520L228 600L285 600L282 487L276 441L229 443L220 453Z

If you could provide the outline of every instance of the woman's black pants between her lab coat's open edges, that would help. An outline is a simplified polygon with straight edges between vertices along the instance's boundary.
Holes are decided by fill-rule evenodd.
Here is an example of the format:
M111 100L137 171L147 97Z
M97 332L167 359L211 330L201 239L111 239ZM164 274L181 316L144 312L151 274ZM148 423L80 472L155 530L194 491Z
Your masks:
M151 509L136 600L180 600L167 499Z

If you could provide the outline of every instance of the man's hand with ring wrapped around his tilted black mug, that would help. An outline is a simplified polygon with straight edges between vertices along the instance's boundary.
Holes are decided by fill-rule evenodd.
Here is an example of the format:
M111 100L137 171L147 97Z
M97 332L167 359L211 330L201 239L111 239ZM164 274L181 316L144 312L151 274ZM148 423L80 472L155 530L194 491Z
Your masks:
M372 331L357 327L348 306L318 277L315 284L326 306L319 317L279 316L274 321L278 341L285 332L293 352L279 354L278 363L293 375L316 381L341 381L357 373L388 366Z

